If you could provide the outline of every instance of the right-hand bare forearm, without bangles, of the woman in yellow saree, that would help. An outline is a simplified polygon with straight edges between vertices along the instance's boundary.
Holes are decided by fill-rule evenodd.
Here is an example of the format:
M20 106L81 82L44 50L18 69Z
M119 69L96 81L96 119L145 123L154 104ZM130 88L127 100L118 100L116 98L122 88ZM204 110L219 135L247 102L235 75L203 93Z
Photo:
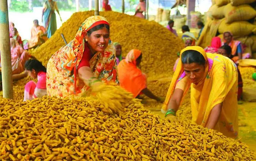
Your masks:
M212 108L211 114L208 119L208 123L205 127L208 129L214 129L215 125L217 124L220 114L222 110L222 103L216 104L214 108Z

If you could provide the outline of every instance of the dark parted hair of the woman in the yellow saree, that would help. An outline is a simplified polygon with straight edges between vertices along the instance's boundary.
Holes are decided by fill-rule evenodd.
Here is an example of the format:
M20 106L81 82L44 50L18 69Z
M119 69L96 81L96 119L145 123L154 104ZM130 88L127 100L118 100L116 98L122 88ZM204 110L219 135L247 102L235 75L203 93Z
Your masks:
M205 65L204 56L196 50L186 50L181 55L182 64L197 63L199 65Z

